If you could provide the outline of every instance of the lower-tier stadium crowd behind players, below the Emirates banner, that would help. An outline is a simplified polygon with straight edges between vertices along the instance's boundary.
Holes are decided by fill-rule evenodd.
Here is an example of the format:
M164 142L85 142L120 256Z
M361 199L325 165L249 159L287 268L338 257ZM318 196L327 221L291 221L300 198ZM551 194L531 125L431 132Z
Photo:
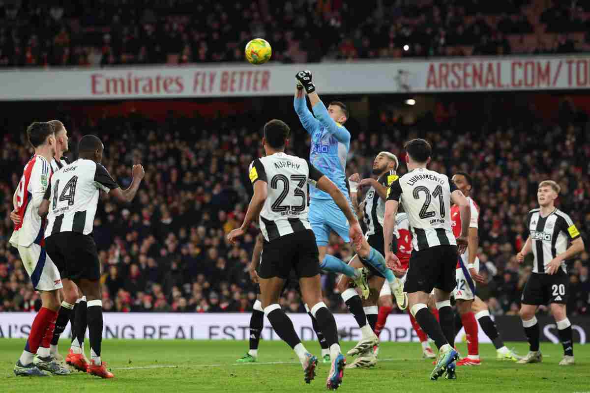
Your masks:
M513 117L506 117L501 98L497 100L480 105L485 109L473 117L453 115L461 108L441 103L447 115L430 113L411 126L383 110L373 117L371 132L353 133L348 172L368 177L376 153L389 150L402 157L403 141L421 136L432 142L432 169L471 173L474 199L481 206L479 255L487 280L478 286L478 295L499 315L517 313L530 275L530 261L520 266L515 254L526 240L523 224L537 204L539 181L558 181L558 206L587 236L590 123L588 115L568 101L562 103L559 118L548 122L539 120L533 108L517 108L510 111ZM94 132L106 147L103 163L120 186L129 185L132 163L140 161L146 168L135 201L120 204L107 196L94 222L105 311L251 310L255 292L246 268L256 229L235 246L225 241L225 235L244 217L251 194L246 169L262 154L260 132L244 126L255 116L171 116L159 123L137 113L84 123L67 115L61 118L71 137L70 158L76 157L78 138ZM473 123L474 118L479 123ZM299 123L291 126L290 153L308 156L307 134ZM5 169L0 175L0 311L31 310L38 299L17 250L8 244L12 193L31 155L23 136L5 134L0 156ZM400 173L404 171L402 166ZM343 260L353 256L336 237L329 252ZM589 267L587 252L570 263L571 315L590 315ZM335 279L323 276L324 297L334 311L346 312ZM281 305L291 312L303 311L296 290L287 292Z

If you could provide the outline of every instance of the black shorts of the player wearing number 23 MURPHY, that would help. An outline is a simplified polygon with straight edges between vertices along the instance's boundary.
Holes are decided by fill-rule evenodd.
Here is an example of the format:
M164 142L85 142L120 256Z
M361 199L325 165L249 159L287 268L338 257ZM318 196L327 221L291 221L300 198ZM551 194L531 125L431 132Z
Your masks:
M313 277L320 273L316 236L311 229L300 230L264 242L260 256L260 278L289 279L291 270L295 277Z

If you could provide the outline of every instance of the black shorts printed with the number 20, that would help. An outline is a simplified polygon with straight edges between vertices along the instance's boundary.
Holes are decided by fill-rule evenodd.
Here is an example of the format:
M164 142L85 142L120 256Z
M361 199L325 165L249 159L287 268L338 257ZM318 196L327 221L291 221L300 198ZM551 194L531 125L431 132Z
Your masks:
M559 269L554 275L531 273L525 289L522 291L521 302L530 305L547 303L568 303L569 276Z

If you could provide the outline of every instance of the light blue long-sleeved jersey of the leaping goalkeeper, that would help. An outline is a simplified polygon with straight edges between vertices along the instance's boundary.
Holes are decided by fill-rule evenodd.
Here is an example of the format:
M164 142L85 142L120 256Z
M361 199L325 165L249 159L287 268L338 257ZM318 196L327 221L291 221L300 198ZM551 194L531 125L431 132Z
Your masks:
M313 115L307 108L305 97L295 98L293 104L303 128L312 136L310 162L332 180L350 201L345 171L350 149L350 133L346 127L332 120L322 101L313 106ZM310 186L310 197L317 200L332 200L330 194L314 186Z

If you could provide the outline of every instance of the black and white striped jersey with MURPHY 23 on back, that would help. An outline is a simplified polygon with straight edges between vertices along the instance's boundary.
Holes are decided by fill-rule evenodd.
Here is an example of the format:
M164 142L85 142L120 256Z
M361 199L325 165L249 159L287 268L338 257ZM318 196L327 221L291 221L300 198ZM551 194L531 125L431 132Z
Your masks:
M307 183L324 176L309 161L285 153L257 158L250 181L266 181L268 196L260 212L260 231L267 242L300 230L312 229L307 218Z

